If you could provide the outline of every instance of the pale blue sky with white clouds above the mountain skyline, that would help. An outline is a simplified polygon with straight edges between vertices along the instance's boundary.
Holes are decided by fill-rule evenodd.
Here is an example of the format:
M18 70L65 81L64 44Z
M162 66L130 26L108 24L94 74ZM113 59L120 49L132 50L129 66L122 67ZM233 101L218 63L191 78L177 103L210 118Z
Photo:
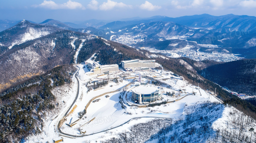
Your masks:
M0 19L61 22L162 15L256 16L256 0L0 0Z

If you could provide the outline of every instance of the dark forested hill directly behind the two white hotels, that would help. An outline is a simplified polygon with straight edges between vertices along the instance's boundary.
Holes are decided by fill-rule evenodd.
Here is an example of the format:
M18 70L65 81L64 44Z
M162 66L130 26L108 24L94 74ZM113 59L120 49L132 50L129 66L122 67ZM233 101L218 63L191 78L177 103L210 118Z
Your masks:
M121 64L121 61L131 59L148 59L143 53L138 52L134 48L130 48L126 45L119 43L105 41L101 38L95 38L87 41L87 44L81 48L77 62L81 63L89 59L94 53L95 61L99 61L100 64Z

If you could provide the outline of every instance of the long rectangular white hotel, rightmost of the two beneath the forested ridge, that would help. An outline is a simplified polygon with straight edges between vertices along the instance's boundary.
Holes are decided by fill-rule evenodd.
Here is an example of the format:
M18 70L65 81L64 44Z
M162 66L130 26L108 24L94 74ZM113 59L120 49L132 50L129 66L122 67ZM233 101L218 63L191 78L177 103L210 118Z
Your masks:
M156 60L129 60L129 61L121 61L122 68L135 68L135 67L156 67Z

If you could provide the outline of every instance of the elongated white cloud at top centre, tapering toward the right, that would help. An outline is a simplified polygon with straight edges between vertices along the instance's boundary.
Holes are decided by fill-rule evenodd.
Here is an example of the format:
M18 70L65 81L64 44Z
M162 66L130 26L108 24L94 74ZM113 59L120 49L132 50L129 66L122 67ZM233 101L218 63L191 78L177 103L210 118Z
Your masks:
M111 0L108 0L107 2L103 2L102 5L99 6L100 10L110 10L110 9L114 9L114 8L132 8L131 5L126 5L122 2L117 3Z

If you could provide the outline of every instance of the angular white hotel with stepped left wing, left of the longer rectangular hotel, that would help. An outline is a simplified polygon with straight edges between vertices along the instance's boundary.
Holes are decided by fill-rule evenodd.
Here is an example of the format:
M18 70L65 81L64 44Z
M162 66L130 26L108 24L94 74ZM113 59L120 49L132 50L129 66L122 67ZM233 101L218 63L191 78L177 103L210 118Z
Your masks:
M107 73L118 71L118 64L99 65L93 62L93 63L88 63L88 67L91 69L90 72L86 73L89 76L107 74Z

